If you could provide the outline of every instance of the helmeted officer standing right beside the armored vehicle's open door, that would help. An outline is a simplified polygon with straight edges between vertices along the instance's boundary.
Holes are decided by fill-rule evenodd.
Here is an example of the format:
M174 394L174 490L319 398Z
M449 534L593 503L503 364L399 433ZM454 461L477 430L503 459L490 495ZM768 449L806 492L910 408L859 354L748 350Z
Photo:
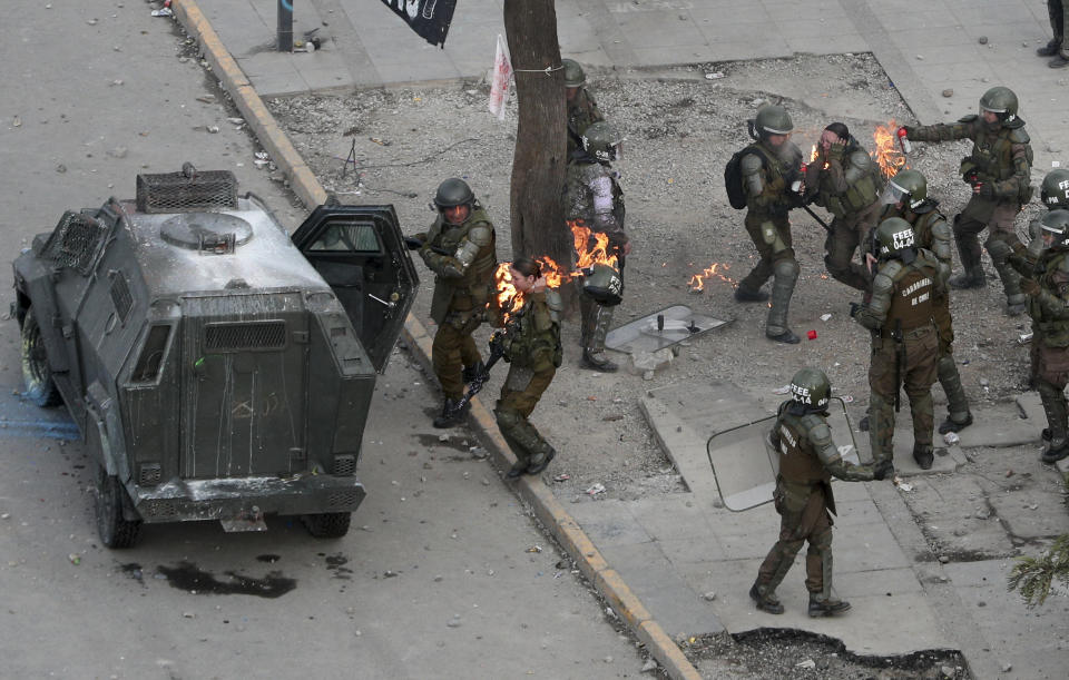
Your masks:
M486 317L498 256L493 224L468 183L447 179L438 187L434 205L438 219L415 238L423 242L420 257L434 273L431 318L438 332L431 363L445 396L434 426L452 427L463 417L457 404L464 395L465 376L470 382L482 369L471 334Z

